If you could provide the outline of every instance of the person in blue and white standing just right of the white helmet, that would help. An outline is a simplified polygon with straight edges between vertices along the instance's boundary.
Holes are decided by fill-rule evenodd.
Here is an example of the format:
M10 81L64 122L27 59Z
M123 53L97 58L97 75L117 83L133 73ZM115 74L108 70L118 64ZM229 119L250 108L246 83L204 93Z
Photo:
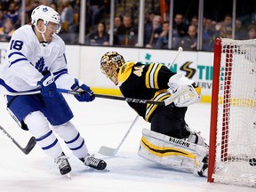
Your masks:
M62 0L60 5L60 18L62 21L62 28L68 32L68 29L73 26L74 10L70 5L69 0Z

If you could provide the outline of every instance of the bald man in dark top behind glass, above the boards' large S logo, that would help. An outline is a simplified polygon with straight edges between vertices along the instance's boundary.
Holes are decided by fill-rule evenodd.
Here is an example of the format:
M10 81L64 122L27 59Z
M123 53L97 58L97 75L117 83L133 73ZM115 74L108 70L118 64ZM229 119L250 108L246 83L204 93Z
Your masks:
M197 45L197 28L194 25L188 27L188 36L184 36L180 42L180 46L186 51L196 51Z

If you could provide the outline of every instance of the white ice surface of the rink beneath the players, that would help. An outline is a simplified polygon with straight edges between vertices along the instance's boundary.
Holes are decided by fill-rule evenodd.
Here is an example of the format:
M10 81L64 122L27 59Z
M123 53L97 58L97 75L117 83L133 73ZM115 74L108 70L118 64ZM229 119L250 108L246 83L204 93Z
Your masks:
M22 147L31 137L22 131L5 109L0 97L0 124ZM124 101L96 99L79 103L73 96L66 96L75 117L72 122L84 136L91 153L96 156L100 146L116 148L136 117ZM211 105L199 103L188 108L187 123L209 140ZM206 178L192 173L166 169L148 162L137 155L142 128L149 128L142 118L134 125L116 156L100 156L108 163L109 172L86 169L65 146L72 166L71 180L61 176L56 164L36 146L28 156L0 132L0 191L1 192L213 192L255 191L255 188L207 183Z

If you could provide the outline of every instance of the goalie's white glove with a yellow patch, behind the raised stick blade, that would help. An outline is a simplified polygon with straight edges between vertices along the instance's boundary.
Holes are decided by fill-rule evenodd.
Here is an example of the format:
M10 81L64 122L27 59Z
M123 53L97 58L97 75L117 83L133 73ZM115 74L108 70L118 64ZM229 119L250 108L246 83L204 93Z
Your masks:
M180 95L177 100L174 100L173 103L176 107L187 107L193 103L196 103L202 99L201 87L196 85L192 79L188 79L188 77L183 76L182 74L175 74L169 79L168 92L173 94L177 92L181 87L188 86L189 92Z

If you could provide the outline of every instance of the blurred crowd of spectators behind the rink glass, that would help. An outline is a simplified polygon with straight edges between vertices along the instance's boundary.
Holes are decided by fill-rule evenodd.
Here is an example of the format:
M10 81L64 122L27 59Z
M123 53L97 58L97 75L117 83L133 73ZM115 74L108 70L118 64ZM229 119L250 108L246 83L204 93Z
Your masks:
M121 0L115 1L116 5ZM29 24L32 10L39 4L51 6L60 12L62 29L60 36L67 44L78 44L80 0L26 0L25 23ZM138 12L129 10L117 12L114 18L113 45L138 46ZM256 12L256 11L255 11ZM110 0L87 0L85 20L85 44L109 45ZM9 41L13 31L21 25L21 0L0 1L0 41ZM143 47L168 49L170 22L161 12L145 13ZM236 20L235 39L256 38L254 20L243 24ZM202 50L212 51L216 37L232 38L232 16L226 14L220 20L204 18L202 30ZM185 18L175 13L172 20L172 49L182 46L184 50L196 51L198 38L198 18Z

